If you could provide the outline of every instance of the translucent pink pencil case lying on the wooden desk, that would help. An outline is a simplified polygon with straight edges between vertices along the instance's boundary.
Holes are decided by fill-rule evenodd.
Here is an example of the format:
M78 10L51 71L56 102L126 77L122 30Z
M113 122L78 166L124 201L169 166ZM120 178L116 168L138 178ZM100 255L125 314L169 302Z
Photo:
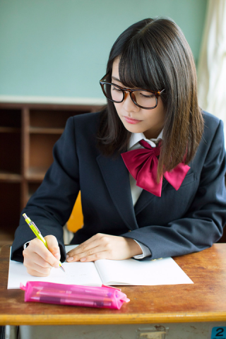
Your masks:
M130 301L118 288L105 285L90 287L28 281L25 286L20 283L20 289L25 291L25 302L121 309L124 302Z

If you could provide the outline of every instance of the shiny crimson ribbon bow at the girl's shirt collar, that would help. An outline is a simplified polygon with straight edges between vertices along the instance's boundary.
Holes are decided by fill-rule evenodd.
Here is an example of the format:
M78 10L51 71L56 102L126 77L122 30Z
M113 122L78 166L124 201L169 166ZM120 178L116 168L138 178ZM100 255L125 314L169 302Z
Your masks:
M157 183L157 156L160 155L160 146L151 147L144 140L139 142L144 148L138 150L129 150L122 153L121 157L129 170L132 177L136 180L136 186L145 189L146 191L161 196L162 192L162 177ZM164 172L164 177L174 189L178 190L181 186L184 177L189 172L190 167L179 163L172 171Z

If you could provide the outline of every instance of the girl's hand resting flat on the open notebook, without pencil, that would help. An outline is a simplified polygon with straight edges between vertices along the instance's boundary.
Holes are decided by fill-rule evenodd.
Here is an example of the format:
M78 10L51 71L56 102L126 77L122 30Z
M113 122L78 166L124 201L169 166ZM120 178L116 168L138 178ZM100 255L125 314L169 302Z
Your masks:
M135 240L115 235L97 233L90 239L71 249L66 261L95 261L98 259L123 260L142 254Z

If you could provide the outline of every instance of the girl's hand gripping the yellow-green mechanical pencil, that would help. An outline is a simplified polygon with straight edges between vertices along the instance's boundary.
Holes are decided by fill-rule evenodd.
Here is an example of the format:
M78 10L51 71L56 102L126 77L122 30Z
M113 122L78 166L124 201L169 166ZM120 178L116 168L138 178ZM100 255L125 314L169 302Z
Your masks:
M23 265L30 275L46 277L52 267L59 268L60 251L57 238L53 235L44 237L47 246L40 239L32 239L29 246L23 250Z

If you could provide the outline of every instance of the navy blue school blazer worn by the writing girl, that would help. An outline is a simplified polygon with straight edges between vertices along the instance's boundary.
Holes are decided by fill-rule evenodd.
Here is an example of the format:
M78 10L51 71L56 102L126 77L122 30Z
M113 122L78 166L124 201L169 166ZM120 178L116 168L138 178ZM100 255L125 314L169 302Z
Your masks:
M78 191L84 226L73 237L81 244L96 233L123 235L151 251L148 259L179 256L208 248L226 223L225 148L222 121L203 113L203 138L182 186L163 179L162 196L143 190L133 208L129 172L121 155L106 157L96 147L100 113L71 117L54 145L54 162L22 213L43 236L53 234L65 260L62 227ZM23 261L23 244L35 237L20 217L11 258Z

